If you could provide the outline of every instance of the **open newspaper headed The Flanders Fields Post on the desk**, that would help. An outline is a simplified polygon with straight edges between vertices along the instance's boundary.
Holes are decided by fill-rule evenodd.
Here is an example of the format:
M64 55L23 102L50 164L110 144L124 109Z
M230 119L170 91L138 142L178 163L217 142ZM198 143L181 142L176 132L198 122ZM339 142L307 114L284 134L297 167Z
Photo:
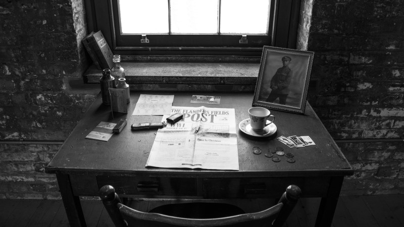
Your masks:
M173 106L170 115L177 112L183 119L158 130L146 166L239 169L234 109Z

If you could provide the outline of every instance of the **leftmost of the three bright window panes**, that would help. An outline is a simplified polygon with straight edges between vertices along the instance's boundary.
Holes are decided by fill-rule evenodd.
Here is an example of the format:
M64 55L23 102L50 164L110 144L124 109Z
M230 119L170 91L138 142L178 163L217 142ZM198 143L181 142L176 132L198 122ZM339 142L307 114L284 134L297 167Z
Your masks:
M120 0L122 33L168 34L167 0Z

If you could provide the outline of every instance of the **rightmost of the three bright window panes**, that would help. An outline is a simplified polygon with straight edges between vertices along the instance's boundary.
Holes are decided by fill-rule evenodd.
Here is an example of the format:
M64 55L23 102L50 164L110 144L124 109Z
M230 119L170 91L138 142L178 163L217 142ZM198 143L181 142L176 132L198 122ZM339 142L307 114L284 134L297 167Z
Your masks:
M220 33L268 34L270 0L222 0Z

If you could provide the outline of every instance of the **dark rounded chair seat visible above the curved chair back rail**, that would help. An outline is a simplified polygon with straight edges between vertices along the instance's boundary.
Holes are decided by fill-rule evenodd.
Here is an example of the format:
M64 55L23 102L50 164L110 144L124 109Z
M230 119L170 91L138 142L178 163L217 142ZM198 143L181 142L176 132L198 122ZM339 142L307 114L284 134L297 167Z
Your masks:
M245 213L238 206L226 203L176 203L166 204L151 209L149 213L160 213L183 218L219 218Z

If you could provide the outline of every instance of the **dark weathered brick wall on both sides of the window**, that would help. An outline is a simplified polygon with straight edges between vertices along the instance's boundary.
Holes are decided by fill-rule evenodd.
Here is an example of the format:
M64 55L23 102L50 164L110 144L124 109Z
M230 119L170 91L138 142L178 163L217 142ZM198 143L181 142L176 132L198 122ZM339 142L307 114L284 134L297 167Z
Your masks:
M304 45L316 52L319 90L308 99L356 169L342 193L403 193L402 142L384 140L404 132L403 3L317 0L312 8ZM64 141L94 99L66 83L87 66L82 0L3 1L0 21L0 142ZM0 198L59 198L55 177L43 173L59 146L0 143ZM390 169L378 177L379 166Z

